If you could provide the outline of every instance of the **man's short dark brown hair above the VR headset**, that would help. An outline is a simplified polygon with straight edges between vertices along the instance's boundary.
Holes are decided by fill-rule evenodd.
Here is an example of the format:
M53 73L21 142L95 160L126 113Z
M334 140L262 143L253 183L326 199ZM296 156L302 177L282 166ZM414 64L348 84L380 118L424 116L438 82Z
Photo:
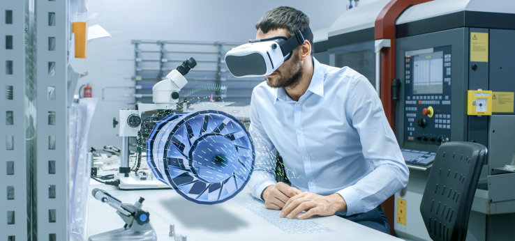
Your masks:
M309 27L308 15L295 8L281 6L264 13L263 17L255 24L255 29L261 29L263 33L270 30L287 29L290 36L294 36L298 30L302 31ZM310 31L311 32L311 31ZM311 55L315 51L313 48L313 33L304 36L311 44Z

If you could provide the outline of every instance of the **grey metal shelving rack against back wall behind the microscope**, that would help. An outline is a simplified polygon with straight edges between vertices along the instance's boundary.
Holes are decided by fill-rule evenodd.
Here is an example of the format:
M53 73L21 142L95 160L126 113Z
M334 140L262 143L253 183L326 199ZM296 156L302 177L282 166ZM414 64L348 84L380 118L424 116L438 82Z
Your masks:
M225 53L241 43L193 42L172 40L133 40L135 48L135 102L152 101L151 88L164 75L185 59L193 56L197 66L186 79L188 84L179 93L188 95L188 101L206 98L213 94L216 101L249 104L254 86L263 79L237 79L230 75L225 65ZM199 91L204 89L204 91ZM194 91L198 91L192 93Z

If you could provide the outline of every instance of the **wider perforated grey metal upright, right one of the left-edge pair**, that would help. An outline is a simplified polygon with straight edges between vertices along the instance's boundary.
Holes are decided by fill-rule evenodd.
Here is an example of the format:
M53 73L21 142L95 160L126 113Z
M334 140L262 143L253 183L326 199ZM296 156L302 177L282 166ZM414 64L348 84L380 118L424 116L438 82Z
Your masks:
M36 1L38 240L68 239L67 1Z

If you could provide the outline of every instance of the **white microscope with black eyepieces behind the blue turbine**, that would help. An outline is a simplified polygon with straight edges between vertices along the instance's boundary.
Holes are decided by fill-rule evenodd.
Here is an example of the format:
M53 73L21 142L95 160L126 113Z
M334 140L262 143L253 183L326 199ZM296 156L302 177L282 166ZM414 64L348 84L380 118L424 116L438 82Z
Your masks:
M149 188L168 188L163 182L151 178L151 172L137 171L131 172L129 166L129 137L137 137L138 146L144 146L145 130L152 129L152 125L143 128L144 123L142 120L143 114L161 111L163 116L172 113L177 109L177 102L179 102L179 91L183 88L188 81L184 75L188 74L191 68L194 68L197 62L193 58L186 59L176 69L172 70L165 79L159 81L152 87L152 104L138 103L135 109L121 109L119 111L119 118L113 118L113 127L119 125L118 135L121 137L121 157L120 168L117 175L119 179L120 189L149 189ZM154 123L158 119L154 119ZM148 133L147 133L148 134ZM140 143L142 141L142 143ZM145 150L136 150L136 162L141 162L141 155ZM139 169L139 165L136 167ZM144 181L144 182L142 182Z

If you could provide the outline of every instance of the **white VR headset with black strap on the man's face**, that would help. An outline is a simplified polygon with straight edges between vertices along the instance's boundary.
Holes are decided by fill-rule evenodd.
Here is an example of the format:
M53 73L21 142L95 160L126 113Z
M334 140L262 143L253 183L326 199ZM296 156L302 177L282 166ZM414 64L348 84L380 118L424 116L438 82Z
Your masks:
M281 64L290 59L293 49L304 44L304 39L312 36L308 27L298 30L294 36L276 36L258 40L248 40L225 54L225 63L234 77L258 77L270 75Z

